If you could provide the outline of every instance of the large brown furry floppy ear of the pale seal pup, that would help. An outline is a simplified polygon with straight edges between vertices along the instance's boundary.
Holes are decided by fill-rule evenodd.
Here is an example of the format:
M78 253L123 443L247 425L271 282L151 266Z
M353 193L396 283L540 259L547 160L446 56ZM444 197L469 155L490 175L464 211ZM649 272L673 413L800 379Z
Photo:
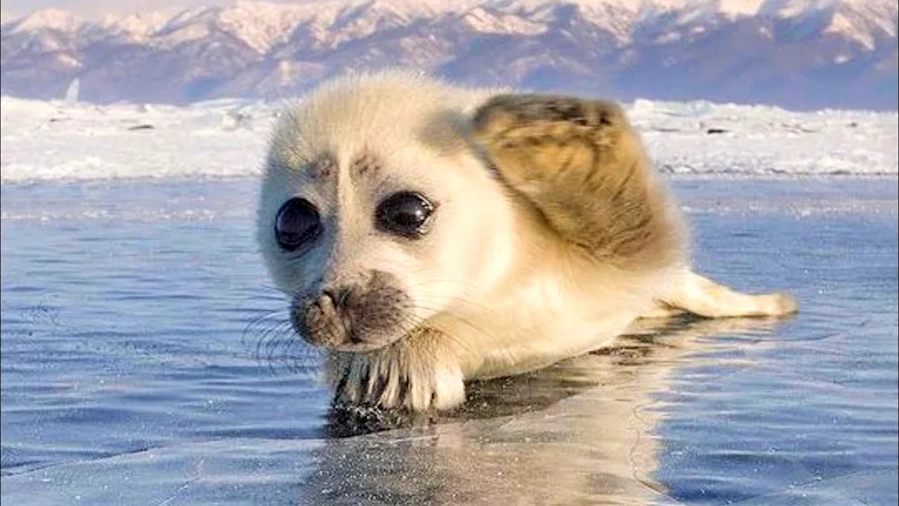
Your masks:
M472 117L477 143L559 235L603 260L668 263L680 227L618 104L497 95Z

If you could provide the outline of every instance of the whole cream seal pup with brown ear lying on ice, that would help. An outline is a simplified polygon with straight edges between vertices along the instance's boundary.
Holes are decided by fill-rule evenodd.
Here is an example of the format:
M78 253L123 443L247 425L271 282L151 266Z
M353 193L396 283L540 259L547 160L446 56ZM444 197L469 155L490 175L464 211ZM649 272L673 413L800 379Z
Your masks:
M681 216L614 102L399 71L323 84L276 127L258 241L337 403L413 411L637 318L784 315L690 269Z

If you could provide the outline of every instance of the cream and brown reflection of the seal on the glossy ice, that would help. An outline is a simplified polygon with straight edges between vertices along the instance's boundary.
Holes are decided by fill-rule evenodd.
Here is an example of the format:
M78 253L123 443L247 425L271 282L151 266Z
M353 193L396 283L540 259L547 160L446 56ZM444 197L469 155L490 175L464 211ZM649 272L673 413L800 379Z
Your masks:
M696 351L773 319L645 320L616 346L520 377L473 384L427 424L334 438L316 451L301 504L639 504L663 440L656 395ZM691 364L695 365L693 361Z

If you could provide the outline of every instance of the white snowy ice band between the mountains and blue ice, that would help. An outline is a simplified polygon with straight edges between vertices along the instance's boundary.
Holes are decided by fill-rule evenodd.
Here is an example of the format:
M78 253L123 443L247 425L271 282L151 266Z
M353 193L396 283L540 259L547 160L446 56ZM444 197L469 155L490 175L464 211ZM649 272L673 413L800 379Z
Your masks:
M230 178L260 173L289 103L96 106L3 97L0 182ZM664 173L895 175L895 112L798 113L708 102L628 104Z

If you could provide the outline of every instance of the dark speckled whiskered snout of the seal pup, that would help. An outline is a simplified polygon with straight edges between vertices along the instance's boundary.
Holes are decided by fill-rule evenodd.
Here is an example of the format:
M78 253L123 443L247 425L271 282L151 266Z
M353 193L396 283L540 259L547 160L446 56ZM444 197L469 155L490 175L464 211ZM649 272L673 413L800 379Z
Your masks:
M411 306L393 275L374 271L365 282L327 287L296 298L290 321L304 340L338 351L370 351L396 341Z

